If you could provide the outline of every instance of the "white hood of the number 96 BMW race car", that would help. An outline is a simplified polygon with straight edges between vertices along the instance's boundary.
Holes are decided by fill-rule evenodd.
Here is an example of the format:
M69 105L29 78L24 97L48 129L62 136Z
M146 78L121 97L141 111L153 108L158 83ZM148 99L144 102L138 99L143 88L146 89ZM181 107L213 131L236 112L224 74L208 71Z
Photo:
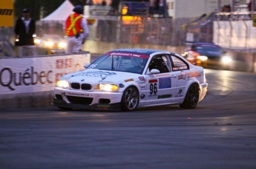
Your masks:
M123 80L131 80L132 78L139 76L139 74L129 72L85 69L79 72L73 72L68 75L64 75L60 78L60 80L68 80L70 83L116 83Z

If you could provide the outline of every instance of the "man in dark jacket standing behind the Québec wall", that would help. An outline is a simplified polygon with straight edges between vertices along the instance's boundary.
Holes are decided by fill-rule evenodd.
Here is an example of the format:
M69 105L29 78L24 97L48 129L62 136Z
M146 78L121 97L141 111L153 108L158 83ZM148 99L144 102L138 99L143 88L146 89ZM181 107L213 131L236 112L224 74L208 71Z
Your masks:
M22 10L22 18L16 21L14 32L19 41L16 42L18 46L18 56L36 55L36 46L33 40L33 34L36 32L36 21L30 18L30 10L25 8Z

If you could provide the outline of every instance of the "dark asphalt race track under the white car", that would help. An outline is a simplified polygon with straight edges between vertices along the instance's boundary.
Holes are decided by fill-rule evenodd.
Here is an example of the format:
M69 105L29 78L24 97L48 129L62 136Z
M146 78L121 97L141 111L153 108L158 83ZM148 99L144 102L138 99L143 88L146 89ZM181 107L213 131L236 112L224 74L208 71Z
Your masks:
M0 168L256 168L256 74L206 69L197 108L0 110Z

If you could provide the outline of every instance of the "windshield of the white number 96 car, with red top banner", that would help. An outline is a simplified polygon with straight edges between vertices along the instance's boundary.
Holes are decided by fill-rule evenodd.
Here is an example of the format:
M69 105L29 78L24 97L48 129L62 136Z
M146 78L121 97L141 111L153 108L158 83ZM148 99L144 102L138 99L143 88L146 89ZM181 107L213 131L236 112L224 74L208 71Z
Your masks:
M148 55L131 52L108 52L93 61L87 69L114 70L142 74Z

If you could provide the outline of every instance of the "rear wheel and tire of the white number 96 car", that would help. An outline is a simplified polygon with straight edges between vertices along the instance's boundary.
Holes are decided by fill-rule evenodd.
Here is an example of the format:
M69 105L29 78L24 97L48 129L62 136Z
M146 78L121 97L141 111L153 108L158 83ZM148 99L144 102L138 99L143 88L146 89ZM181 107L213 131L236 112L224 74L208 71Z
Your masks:
M197 84L192 84L188 88L188 92L182 104L181 108L196 108L199 102L199 87Z

